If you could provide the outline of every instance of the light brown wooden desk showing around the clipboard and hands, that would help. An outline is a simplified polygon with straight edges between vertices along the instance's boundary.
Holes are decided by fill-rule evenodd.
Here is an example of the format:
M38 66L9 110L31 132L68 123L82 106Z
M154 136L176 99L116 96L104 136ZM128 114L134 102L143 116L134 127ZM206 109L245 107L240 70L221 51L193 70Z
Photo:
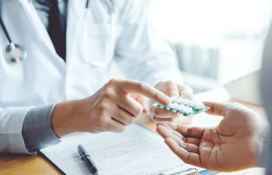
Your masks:
M238 102L235 100L232 100L232 102ZM257 113L259 113L263 118L265 118L265 113L263 111L263 108L260 106L255 106L248 103L242 103L241 104L255 110ZM150 120L148 116L143 116L139 121L139 124L149 128L150 130L155 130L156 126L154 122ZM253 172L253 171L258 172ZM254 169L252 171L253 174L260 174L259 170L261 172L264 172L263 169ZM0 174L21 174L21 175L34 175L34 174L50 174L50 175L60 175L61 173L52 165L50 164L45 158L43 158L39 154L35 155L18 155L18 154L4 154L0 155ZM217 175L238 175L242 174L239 172L233 172L233 173L218 173ZM247 175L246 173L245 175ZM262 173L263 174L263 173ZM249 174L248 174L249 175Z

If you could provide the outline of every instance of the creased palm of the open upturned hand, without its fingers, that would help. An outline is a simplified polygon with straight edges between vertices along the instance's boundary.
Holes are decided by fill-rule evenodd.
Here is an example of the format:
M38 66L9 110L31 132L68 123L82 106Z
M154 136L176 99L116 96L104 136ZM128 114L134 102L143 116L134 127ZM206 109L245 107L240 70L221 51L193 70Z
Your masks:
M244 122L243 117L237 117L236 121ZM222 171L249 168L259 155L254 129L241 126L237 129L225 123L227 121L222 120L218 126L204 130L198 148L202 166Z

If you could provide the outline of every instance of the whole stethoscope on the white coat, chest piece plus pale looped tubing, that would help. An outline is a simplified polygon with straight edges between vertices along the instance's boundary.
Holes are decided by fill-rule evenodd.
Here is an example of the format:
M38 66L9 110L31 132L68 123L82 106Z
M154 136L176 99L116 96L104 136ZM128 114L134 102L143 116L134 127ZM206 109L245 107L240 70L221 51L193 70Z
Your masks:
M115 45L115 22L116 22L116 16L115 16L115 10L114 10L114 5L111 0L105 0L106 3L108 4L109 11L111 13L111 47L110 51L108 52L107 57L112 57L114 53L114 45ZM89 5L89 0L86 2L86 9L88 9ZM86 17L86 14L85 14ZM13 41L11 40L9 33L7 32L7 28L5 27L5 24L3 22L2 16L0 14L0 23L1 27L4 30L4 33L9 41L9 45L7 46L5 50L5 57L8 61L11 63L21 63L27 58L27 51L21 47L18 44L14 44ZM89 61L88 59L85 59L86 63L92 63L96 66L106 66L110 63L111 59L107 59L105 63L100 63L96 61Z

